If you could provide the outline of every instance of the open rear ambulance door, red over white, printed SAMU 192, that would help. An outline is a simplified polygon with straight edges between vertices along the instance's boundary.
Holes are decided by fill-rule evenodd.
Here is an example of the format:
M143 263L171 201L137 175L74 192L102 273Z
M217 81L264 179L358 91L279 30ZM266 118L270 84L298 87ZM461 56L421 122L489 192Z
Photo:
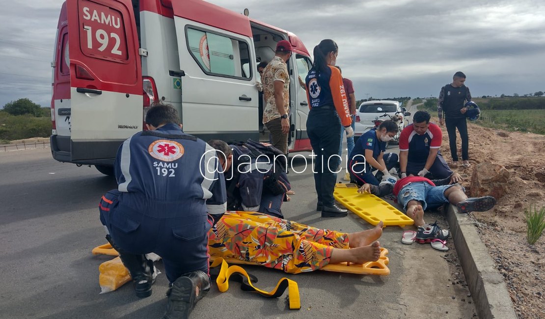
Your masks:
M111 165L142 130L142 70L131 0L68 0L72 162Z

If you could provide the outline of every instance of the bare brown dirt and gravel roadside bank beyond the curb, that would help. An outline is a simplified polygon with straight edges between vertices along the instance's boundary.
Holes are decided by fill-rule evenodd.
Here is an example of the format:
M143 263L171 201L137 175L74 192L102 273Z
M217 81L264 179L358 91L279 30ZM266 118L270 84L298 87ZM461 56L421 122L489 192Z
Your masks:
M449 136L443 130L442 154L452 162ZM545 206L545 136L506 132L468 122L469 162L453 170L471 176L477 163L492 161L510 171L507 193L490 211L472 213L480 222L480 234L498 270L504 275L511 299L521 318L545 318L545 235L530 246L526 241L524 210ZM458 156L461 140L457 135ZM469 194L470 177L463 181Z

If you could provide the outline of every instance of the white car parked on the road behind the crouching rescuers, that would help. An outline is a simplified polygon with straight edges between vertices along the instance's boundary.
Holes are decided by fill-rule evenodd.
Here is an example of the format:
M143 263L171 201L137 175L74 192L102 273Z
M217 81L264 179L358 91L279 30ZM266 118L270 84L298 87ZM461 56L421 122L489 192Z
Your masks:
M386 115L387 114L387 115ZM362 134L375 127L376 120L389 120L393 116L401 117L399 121L399 132L392 142L399 141L399 134L406 124L408 124L407 116L410 115L407 110L401 106L401 102L390 100L366 101L361 103L358 111L356 111L356 122L354 125L354 143Z

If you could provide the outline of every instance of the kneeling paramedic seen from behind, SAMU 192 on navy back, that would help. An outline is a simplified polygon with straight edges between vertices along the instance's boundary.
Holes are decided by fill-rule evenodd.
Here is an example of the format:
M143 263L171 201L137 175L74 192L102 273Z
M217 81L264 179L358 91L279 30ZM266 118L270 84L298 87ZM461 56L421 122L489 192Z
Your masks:
M150 108L146 123L149 131L118 150L118 189L102 197L100 220L136 295L152 294L153 263L144 254L156 253L170 283L165 318L186 318L210 288L209 214L225 213L225 180L216 151L181 130L172 106Z

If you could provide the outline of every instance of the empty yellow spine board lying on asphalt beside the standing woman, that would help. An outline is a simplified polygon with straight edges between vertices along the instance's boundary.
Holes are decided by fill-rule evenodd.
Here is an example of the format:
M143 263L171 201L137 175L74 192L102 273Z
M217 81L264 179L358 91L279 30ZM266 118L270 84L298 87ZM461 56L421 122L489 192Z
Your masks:
M344 207L355 213L371 225L377 225L380 220L384 226L413 225L414 220L409 218L396 207L385 200L369 193L358 193L358 185L335 184L333 196Z

